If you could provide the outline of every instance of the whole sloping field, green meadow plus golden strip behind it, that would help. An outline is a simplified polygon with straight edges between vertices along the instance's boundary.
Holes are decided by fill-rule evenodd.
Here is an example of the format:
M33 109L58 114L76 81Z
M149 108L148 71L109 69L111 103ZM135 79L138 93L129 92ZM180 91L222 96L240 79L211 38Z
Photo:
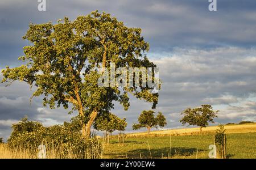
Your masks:
M218 126L126 134L124 146L113 138L104 158L208 158L209 145ZM225 125L229 158L256 158L256 124Z

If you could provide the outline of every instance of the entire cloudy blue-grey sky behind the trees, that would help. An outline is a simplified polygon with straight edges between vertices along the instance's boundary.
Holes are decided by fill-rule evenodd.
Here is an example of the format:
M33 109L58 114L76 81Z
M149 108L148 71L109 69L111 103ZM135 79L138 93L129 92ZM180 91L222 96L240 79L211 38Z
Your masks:
M22 40L29 23L47 23L67 16L75 20L91 11L105 11L127 27L142 28L150 44L148 58L159 66L162 90L156 112L167 119L165 129L181 128L180 113L188 107L211 104L219 110L217 124L256 121L256 2L217 0L217 11L209 11L208 0L46 0L46 11L36 0L0 1L0 70L19 66ZM2 75L0 74L0 80ZM0 84L0 137L5 140L10 126L27 115L45 126L62 124L69 115L63 108L49 109L42 97L32 99L26 83ZM124 111L115 104L113 113L126 117L126 131L137 122L150 103L131 97ZM142 129L144 130L144 129Z

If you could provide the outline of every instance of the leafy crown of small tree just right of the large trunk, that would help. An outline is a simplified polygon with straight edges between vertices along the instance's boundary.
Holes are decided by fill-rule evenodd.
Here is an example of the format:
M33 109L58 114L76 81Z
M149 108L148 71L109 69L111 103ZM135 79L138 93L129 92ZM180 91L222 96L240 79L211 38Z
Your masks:
M100 116L94 123L94 129L113 133L115 130L124 131L127 126L126 118L119 118L112 113L108 116Z

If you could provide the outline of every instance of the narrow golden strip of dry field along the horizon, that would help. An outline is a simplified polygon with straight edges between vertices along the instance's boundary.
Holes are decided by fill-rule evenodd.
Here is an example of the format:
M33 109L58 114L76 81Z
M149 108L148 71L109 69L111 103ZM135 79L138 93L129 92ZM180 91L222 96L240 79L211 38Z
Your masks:
M212 133L218 126L209 126L203 128L203 133ZM244 124L244 125L225 125L226 133L254 133L256 132L256 124ZM200 128L184 128L184 129L170 129L170 130L156 130L151 131L151 135L191 135L200 133ZM142 133L130 133L126 134L126 137L137 137L147 135L146 132Z

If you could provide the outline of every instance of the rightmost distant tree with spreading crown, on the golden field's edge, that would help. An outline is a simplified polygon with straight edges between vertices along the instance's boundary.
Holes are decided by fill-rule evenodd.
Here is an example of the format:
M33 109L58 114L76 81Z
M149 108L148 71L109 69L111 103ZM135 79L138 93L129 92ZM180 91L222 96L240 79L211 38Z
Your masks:
M184 114L184 117L181 118L180 122L185 125L196 125L200 127L200 133L202 128L205 128L209 125L209 122L214 123L213 118L217 117L218 111L213 111L211 105L201 105L200 108L188 108L185 109L181 114Z

